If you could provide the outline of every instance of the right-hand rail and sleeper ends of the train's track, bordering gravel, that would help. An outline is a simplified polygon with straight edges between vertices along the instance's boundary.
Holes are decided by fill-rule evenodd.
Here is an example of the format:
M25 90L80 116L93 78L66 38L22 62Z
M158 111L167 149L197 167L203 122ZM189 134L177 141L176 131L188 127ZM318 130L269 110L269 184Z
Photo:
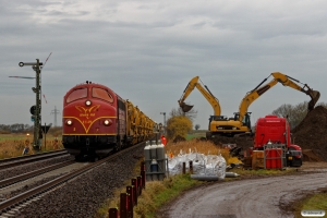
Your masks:
M137 145L137 146L142 146L142 144ZM136 146L136 147L137 147ZM14 216L14 214L16 211L19 211L22 207L24 207L24 205L27 202L31 201L37 201L40 196L46 195L47 193L56 190L58 186L62 185L63 183L73 180L74 178L96 168L99 167L100 165L104 165L110 160L113 160L114 158L117 158L118 156L124 154L124 153L129 153L130 150L134 149L135 146L126 148L120 153L113 154L107 158L104 158L101 160L98 160L96 162L92 162L85 167L82 167L80 169L76 169L72 172L69 172L66 174L63 174L57 179L53 179L49 182L46 182L45 184L38 185L27 192L21 193L14 197L11 197L9 199L5 199L3 202L0 203L0 215L2 217L11 217Z

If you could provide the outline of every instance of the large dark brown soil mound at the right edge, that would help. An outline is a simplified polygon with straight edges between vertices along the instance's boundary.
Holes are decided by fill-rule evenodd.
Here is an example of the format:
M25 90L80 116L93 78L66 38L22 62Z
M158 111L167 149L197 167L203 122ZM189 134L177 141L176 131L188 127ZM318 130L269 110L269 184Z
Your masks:
M327 161L327 109L317 106L292 131L292 142Z

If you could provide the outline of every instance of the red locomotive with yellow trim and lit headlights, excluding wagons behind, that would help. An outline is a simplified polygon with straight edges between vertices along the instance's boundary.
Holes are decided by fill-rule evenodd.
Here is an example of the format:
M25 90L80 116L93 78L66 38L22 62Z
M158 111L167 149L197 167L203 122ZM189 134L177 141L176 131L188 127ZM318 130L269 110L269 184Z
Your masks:
M63 98L62 143L70 154L106 156L126 134L126 107L110 88L76 85Z

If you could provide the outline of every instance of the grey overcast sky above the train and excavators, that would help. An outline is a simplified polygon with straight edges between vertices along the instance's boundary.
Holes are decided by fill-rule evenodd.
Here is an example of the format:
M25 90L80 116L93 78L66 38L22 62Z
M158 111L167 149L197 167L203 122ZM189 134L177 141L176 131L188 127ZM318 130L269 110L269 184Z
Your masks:
M156 122L178 108L198 75L232 117L245 94L272 72L320 92L327 101L327 1L324 0L0 0L0 124L31 122L35 76L19 62L46 63L43 124L61 125L62 100L76 84L107 85ZM271 77L268 78L270 81ZM302 86L302 84L299 84ZM310 97L277 84L249 108L252 122ZM197 89L194 124L207 129L211 106Z

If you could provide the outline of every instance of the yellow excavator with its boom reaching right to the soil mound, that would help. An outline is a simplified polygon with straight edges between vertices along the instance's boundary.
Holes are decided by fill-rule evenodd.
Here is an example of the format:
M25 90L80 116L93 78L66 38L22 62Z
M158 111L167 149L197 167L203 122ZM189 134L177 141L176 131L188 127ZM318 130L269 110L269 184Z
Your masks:
M265 83L271 75L274 78L269 83L262 86L262 84ZM251 134L251 112L247 112L247 108L254 100L256 100L259 96L262 96L265 92L275 86L277 83L281 83L283 86L289 86L308 95L311 97L311 101L307 106L308 111L314 109L314 106L320 97L319 92L313 90L306 84L303 84L300 81L292 78L291 76L284 75L280 72L271 73L268 77L265 78L253 90L249 92L245 95L245 97L240 104L239 112L234 113L233 119L229 119L226 121L213 120L209 124L210 132L207 134L207 138L215 137L215 135L225 135L233 137ZM304 86L301 87L294 82L301 83Z

